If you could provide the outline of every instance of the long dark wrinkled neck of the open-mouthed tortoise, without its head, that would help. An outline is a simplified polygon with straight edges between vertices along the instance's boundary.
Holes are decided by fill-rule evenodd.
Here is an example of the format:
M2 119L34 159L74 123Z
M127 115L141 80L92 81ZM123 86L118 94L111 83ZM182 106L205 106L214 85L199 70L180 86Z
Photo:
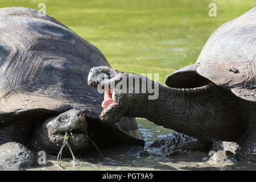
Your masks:
M246 113L251 110L248 102L238 100L229 90L212 82L192 89L159 84L158 99L147 102L144 118L204 140L236 142L247 130Z

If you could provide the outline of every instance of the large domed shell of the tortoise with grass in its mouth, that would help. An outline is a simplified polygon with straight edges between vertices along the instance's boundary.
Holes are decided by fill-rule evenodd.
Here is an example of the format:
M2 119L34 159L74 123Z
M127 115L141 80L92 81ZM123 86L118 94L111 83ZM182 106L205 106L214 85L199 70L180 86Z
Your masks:
M51 16L25 7L0 9L0 113L86 109L102 96L87 85L92 67L107 65L92 44Z

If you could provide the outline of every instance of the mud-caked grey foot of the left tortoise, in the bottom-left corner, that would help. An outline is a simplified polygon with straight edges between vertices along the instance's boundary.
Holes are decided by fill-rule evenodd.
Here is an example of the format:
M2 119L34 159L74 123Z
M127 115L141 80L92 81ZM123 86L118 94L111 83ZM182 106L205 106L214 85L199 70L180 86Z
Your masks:
M24 170L34 162L34 154L17 142L7 142L0 146L1 170Z

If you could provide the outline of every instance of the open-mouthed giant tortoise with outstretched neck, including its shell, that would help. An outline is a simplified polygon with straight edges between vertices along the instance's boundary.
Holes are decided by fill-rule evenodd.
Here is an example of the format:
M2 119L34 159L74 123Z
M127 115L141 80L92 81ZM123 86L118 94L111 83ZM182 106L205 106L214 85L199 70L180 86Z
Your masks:
M121 116L147 118L201 140L237 142L238 156L255 162L255 65L256 7L219 27L195 64L167 76L167 86L109 67L92 68L88 84L105 90L105 123ZM148 85L158 88L156 99Z

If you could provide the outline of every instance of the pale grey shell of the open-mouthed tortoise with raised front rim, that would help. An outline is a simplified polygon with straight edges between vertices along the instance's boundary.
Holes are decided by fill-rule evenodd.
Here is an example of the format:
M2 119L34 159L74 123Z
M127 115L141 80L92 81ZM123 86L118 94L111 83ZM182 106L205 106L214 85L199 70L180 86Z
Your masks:
M208 39L196 64L166 78L170 87L189 87L207 78L236 96L256 102L256 7L220 26Z

